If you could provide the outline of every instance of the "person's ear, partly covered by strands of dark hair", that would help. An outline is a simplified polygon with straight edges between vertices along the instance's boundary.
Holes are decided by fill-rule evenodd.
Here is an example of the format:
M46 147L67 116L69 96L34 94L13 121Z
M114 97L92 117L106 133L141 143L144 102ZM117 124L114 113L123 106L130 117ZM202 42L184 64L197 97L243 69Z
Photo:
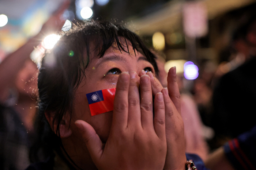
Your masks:
M58 121L57 121L57 119L55 119L54 124L52 124L54 113L53 112L45 112L45 117L48 120L48 122L52 128L52 131L56 134ZM67 138L72 134L72 130L69 128L69 120L65 116L61 120L59 130L60 130L60 138ZM56 135L58 135L58 134L56 134Z

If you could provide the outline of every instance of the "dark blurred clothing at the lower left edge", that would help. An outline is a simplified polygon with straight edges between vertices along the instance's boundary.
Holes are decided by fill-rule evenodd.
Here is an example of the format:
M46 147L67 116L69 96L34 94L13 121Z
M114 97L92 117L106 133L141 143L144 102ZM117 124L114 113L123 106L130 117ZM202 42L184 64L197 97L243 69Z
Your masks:
M28 132L13 108L0 105L0 169L24 170L28 155Z

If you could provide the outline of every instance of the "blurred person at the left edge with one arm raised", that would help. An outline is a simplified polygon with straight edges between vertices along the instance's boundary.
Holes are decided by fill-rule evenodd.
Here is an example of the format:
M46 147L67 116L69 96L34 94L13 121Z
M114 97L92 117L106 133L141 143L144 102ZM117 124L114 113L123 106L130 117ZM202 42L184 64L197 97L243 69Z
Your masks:
M23 170L29 166L29 147L35 138L34 120L37 112L37 65L30 53L49 33L64 25L62 7L27 43L9 54L0 63L0 169Z

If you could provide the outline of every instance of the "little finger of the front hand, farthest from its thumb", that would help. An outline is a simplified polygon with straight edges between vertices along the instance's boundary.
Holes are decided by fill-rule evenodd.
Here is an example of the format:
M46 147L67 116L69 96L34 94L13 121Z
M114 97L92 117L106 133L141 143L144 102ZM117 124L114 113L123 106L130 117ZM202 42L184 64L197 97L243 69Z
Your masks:
M165 139L165 104L163 101L163 94L157 93L154 101L154 128L158 138Z

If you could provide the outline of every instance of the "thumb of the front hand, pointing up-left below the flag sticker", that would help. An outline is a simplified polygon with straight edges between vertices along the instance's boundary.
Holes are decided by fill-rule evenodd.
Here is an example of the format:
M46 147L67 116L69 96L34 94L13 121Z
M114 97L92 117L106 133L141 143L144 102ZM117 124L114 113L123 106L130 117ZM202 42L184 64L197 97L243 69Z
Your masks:
M76 120L75 124L76 127L78 127L84 142L86 143L91 158L94 162L98 162L103 153L103 144L101 139L99 139L99 136L96 134L94 128L89 123L83 120Z

